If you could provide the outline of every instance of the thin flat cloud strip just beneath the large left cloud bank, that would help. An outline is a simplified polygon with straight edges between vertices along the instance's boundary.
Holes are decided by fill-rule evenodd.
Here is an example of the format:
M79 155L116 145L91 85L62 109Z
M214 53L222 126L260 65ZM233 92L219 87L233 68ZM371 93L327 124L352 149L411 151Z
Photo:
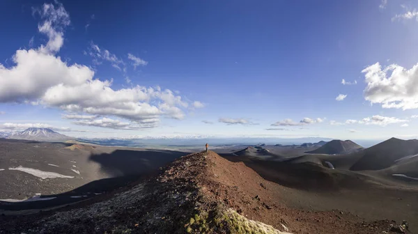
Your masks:
M141 123L132 124L122 122L121 120L114 120L111 118L100 118L95 120L82 119L72 122L76 125L94 126L94 127L106 127L115 130L139 130L144 128L155 127L155 123Z

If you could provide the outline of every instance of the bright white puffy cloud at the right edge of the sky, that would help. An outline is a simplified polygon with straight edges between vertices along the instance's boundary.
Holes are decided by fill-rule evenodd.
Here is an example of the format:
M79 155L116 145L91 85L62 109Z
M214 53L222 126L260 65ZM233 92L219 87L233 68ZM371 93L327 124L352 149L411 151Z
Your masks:
M418 108L418 64L407 70L392 64L382 69L379 63L362 70L367 86L364 99L382 108Z

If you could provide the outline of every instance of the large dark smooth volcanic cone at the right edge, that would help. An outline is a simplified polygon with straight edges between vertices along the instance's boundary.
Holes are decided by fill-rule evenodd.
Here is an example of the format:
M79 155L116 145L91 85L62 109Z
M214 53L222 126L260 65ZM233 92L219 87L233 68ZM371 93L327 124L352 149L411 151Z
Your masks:
M380 170L386 169L394 164L401 164L411 159L418 154L418 140L401 140L391 138L376 146L362 150L355 153L354 157L359 159L350 170ZM408 160L408 158L410 158ZM417 169L415 169L417 171Z

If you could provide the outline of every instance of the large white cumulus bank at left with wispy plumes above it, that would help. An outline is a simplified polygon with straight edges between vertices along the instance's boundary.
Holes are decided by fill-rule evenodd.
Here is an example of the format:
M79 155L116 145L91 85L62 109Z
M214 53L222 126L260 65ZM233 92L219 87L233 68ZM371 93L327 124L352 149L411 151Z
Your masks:
M183 109L189 103L169 89L144 86L114 89L111 80L95 79L95 72L86 65L61 61L55 53L63 45L63 28L70 24L70 18L61 3L56 4L44 4L42 9L34 10L45 20L39 31L47 32L47 45L17 50L13 56L15 65L10 68L0 64L0 102L41 104L91 116L116 116L141 126L156 126L162 116L185 117ZM112 65L124 65L114 54L93 43L91 52Z

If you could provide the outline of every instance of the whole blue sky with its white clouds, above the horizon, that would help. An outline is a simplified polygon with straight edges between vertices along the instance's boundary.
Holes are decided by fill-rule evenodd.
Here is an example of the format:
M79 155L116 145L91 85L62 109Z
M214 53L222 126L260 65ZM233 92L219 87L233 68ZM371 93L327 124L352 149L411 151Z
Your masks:
M416 8L391 0L1 2L0 130L415 138Z

